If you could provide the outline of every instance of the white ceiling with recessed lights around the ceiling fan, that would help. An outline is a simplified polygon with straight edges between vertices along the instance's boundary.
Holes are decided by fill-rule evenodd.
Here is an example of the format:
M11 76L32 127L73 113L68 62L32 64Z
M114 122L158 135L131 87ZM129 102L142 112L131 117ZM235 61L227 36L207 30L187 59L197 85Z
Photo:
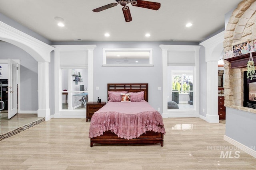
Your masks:
M224 28L224 15L242 0L150 0L158 11L129 4L132 21L122 6L92 10L115 0L0 0L0 12L50 41L194 41ZM64 19L58 27L54 17ZM185 27L191 22L192 27ZM104 37L108 32L110 37ZM150 33L150 37L145 37Z

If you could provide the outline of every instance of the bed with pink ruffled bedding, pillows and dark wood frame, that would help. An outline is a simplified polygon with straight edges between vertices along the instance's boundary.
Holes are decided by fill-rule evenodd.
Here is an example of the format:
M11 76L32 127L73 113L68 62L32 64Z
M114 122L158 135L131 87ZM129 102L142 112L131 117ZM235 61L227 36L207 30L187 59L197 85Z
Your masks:
M113 94L122 95L112 98ZM94 143L163 147L164 135L162 115L148 104L148 84L108 84L108 103L91 118L90 147Z

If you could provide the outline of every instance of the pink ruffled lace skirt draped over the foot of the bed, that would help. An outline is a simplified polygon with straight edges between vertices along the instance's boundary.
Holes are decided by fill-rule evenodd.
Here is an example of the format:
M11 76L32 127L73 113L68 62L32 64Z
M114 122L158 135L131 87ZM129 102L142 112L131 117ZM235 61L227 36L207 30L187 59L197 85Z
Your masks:
M158 111L144 111L136 114L115 111L94 113L91 119L89 138L112 131L120 138L134 139L146 131L165 134L162 115Z

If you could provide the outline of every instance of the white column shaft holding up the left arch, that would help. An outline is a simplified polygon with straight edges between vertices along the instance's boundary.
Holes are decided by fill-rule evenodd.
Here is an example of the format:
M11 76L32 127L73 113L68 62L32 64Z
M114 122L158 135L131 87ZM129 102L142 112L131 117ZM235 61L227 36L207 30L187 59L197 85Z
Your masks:
M49 63L38 62L38 117L50 119L49 108Z

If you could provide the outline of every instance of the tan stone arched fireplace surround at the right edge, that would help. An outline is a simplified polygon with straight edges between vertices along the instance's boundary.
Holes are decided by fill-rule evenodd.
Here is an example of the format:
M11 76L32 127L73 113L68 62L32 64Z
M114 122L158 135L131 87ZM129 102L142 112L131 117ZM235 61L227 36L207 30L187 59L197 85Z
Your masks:
M224 51L232 50L232 44L249 41L253 45L256 40L256 0L243 0L233 11L224 34ZM249 60L249 57L248 57ZM225 106L251 113L256 109L243 107L244 75L247 68L231 68L231 63L224 60L224 95Z

